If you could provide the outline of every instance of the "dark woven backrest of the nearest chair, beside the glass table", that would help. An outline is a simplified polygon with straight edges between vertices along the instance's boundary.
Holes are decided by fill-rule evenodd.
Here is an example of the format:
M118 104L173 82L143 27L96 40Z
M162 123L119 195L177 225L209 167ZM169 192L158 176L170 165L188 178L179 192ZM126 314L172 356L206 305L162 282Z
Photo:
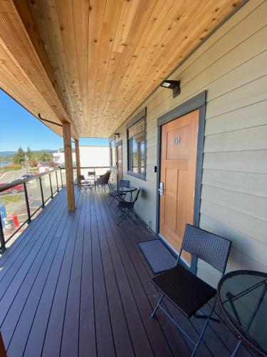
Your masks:
M224 273L231 248L229 239L186 224L181 250L188 251Z

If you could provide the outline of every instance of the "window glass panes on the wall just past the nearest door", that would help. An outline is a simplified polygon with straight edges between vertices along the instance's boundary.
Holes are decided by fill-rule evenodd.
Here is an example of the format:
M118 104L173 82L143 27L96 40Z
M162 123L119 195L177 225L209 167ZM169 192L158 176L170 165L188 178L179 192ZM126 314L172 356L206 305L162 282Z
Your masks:
M128 173L145 180L145 117L127 129Z

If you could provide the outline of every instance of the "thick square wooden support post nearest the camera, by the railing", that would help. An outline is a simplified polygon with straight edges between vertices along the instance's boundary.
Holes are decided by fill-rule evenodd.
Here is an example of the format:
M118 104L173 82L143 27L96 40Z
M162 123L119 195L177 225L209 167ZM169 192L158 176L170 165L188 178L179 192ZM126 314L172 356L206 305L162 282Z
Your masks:
M66 166L66 185L68 211L75 210L74 183L73 183L73 151L71 149L70 123L63 123L64 154Z

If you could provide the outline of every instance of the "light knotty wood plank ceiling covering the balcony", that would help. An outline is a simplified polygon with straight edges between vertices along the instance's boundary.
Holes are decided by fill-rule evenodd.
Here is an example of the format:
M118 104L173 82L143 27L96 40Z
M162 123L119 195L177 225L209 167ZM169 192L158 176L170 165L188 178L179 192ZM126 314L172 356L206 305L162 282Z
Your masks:
M48 88L38 89L43 74L38 73L34 81L18 54L9 50L14 34L11 39L4 37L6 23L0 27L0 85L33 114L70 121L80 137L108 137L244 2L0 0L1 22L12 19L15 32L19 31L16 25L24 25L35 53L41 56L46 79L53 77L51 96L56 88L60 101L52 106L55 99L48 97ZM31 21L33 26L28 25ZM58 112L60 107L67 119ZM58 127L51 129L59 133Z

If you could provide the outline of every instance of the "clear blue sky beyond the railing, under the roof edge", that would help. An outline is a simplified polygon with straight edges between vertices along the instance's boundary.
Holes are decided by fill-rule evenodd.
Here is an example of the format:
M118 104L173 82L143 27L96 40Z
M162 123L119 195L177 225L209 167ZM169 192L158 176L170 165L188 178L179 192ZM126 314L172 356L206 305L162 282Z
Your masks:
M80 145L108 145L108 139L80 138ZM59 149L63 139L0 89L0 151L16 151L19 146Z

